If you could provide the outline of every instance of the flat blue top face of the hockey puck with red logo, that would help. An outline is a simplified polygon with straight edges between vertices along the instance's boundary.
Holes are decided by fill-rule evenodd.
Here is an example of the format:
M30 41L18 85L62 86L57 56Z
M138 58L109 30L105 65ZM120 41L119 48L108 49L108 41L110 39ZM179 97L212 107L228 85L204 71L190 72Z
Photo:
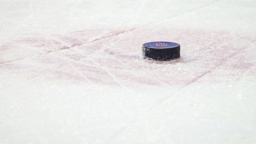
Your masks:
M148 48L166 49L166 48L178 47L180 45L175 42L147 42L147 43L144 43L143 46Z

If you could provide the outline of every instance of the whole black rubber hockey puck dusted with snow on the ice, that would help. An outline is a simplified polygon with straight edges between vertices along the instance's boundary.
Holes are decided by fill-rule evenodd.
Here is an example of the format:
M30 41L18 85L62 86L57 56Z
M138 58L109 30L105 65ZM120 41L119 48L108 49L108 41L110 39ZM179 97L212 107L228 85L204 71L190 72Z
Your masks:
M143 58L150 60L174 60L180 57L180 45L174 42L147 42L142 45Z

